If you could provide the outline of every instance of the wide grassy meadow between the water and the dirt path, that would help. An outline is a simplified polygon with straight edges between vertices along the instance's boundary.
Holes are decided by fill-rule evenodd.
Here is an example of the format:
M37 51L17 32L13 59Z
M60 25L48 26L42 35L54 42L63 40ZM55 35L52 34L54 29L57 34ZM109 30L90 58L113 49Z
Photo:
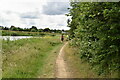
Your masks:
M54 77L59 36L2 42L3 78Z

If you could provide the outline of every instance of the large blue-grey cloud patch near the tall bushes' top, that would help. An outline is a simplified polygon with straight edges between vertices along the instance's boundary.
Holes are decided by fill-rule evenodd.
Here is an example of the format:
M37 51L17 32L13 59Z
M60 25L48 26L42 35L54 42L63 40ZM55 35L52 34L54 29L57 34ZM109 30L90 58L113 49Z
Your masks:
M68 12L68 2L47 2L43 5L43 13L47 15L60 15Z

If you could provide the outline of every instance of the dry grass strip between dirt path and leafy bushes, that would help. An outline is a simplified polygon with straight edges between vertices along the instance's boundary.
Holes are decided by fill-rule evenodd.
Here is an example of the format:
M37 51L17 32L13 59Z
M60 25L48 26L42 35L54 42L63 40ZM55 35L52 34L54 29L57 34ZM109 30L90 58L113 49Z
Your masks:
M70 72L70 78L118 78L116 73L98 76L87 62L80 59L76 48L67 45L64 48L64 52L64 59L67 65L67 71Z

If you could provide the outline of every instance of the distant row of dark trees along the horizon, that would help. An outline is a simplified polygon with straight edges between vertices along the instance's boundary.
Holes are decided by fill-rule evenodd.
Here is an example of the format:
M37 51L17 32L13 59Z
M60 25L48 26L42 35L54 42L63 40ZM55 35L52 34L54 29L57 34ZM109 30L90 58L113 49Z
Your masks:
M11 31L27 31L27 32L50 32L50 33L62 33L64 30L56 30L56 29L37 29L36 26L32 26L31 28L20 28L20 27L15 27L11 26L10 28L8 27L3 27L0 26L2 30L11 30Z

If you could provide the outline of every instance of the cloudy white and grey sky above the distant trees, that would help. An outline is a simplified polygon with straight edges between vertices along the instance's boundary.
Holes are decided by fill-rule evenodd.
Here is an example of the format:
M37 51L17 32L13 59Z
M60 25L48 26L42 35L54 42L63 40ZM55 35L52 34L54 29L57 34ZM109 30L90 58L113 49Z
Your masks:
M0 26L65 29L69 0L0 0Z

